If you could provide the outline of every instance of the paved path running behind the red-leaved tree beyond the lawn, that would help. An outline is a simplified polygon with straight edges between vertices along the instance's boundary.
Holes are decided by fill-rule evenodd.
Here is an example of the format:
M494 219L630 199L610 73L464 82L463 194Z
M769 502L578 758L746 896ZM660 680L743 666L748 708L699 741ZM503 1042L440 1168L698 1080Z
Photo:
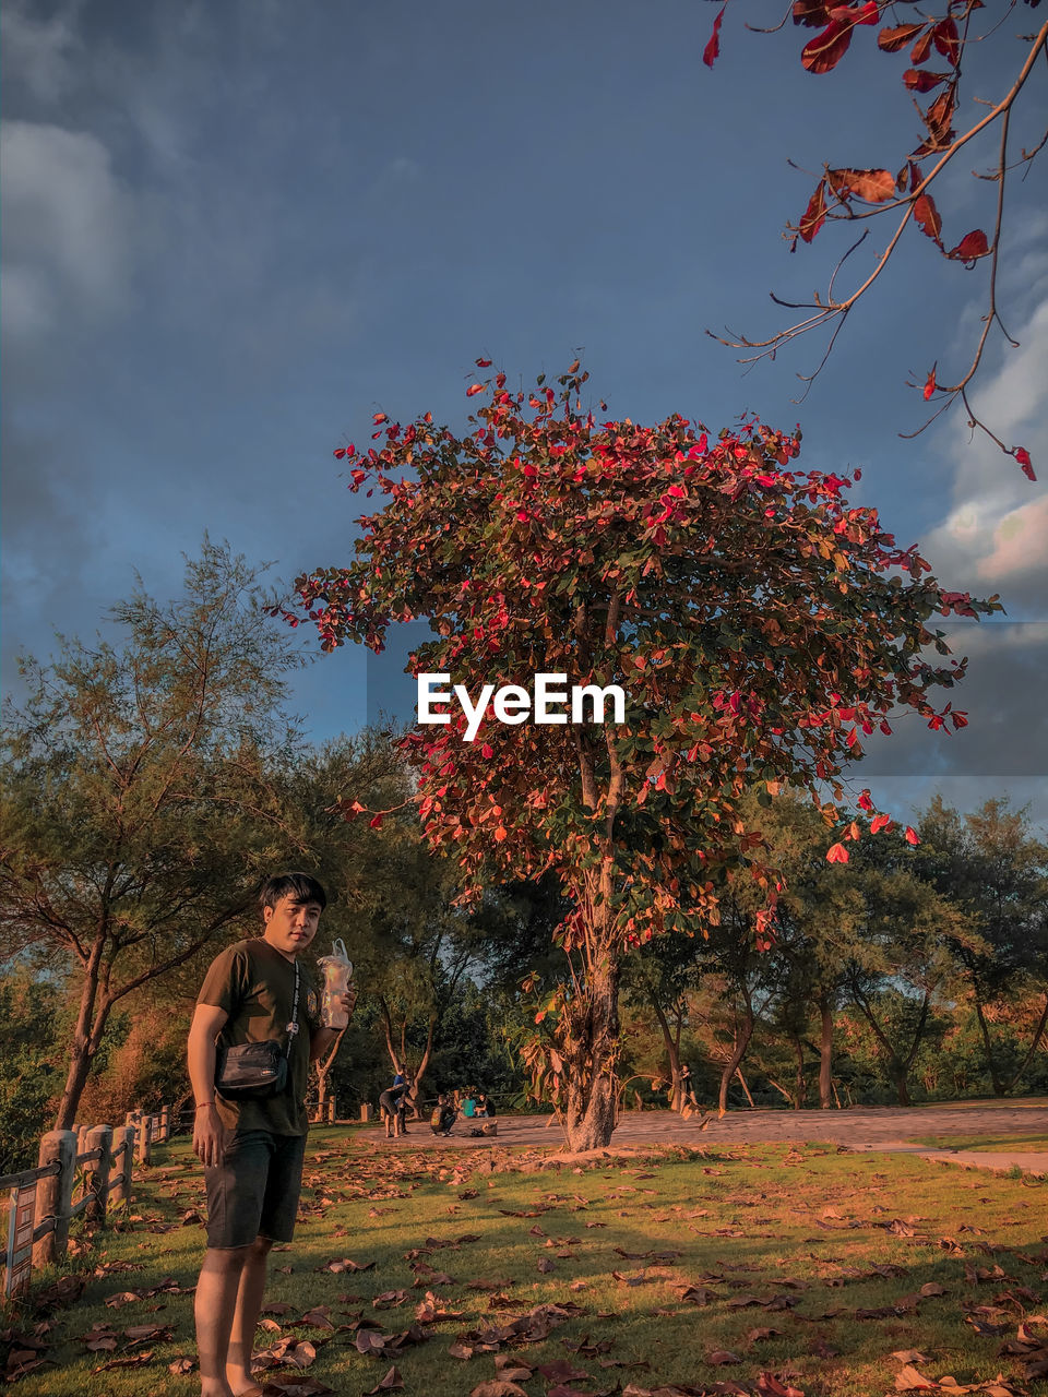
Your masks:
M563 1148L563 1134L548 1116L499 1116L499 1146L556 1153ZM987 1134L994 1141L1007 1136L1048 1136L1048 1101L959 1102L942 1106L855 1106L847 1111L731 1111L722 1120L707 1118L682 1119L671 1111L627 1111L615 1132L612 1148L643 1148L644 1146L718 1146L760 1141L819 1140L844 1144L852 1150L890 1150L919 1154L984 1169L1010 1169L1019 1165L1030 1173L1048 1172L1048 1153L1014 1150L1000 1151L929 1150L912 1144L914 1136L957 1134L971 1137ZM407 1139L386 1140L381 1127L361 1133L361 1140L380 1148L488 1148L490 1139L471 1139L468 1126L460 1120L449 1139L435 1139L425 1122L412 1123Z

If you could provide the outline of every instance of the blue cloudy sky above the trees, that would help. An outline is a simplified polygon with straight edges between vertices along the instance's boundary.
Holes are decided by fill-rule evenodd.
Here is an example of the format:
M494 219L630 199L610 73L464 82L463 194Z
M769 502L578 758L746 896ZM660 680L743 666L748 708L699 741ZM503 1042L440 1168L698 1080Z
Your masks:
M770 291L824 285L834 244L791 256L783 224L823 162L894 165L914 144L904 61L857 42L813 77L806 35L746 34L729 7L710 73L715 13L6 0L6 692L20 647L89 636L134 569L170 594L204 529L288 581L348 560L359 502L334 446L366 440L379 409L461 426L481 355L527 381L583 349L616 416L799 419L802 464L862 467L855 499L945 585L1002 594L1009 623L960 647L970 726L904 729L858 785L900 813L938 787L963 807L1009 792L1048 819L1045 486L970 446L957 416L897 436L921 420L907 376L960 365L982 271L908 237L802 405L795 374L819 345L743 376L704 334L776 328ZM999 94L1016 52L1007 34L987 45L973 95ZM985 225L968 170L988 158L938 191L947 239ZM995 345L980 394L1044 481L1042 190L1037 170L1009 184L1002 309L1021 348ZM340 652L300 678L314 736L363 721L365 675Z

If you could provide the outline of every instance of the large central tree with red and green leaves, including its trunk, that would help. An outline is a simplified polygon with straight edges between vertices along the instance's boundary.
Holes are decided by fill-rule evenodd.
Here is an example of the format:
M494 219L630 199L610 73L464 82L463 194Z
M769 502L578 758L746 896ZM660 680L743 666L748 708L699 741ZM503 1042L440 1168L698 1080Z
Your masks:
M742 792L805 789L841 819L864 735L896 705L942 718L929 694L964 671L922 658L936 641L947 652L929 617L999 609L947 599L876 510L848 504L850 479L798 469L798 434L598 423L585 379L576 362L559 391L545 376L532 393L504 373L472 384L485 397L465 436L379 414L377 446L335 454L349 488L384 504L359 521L349 567L296 583L324 650L380 651L391 624L426 617L435 638L412 672L474 697L537 673L625 690L622 725L510 726L489 707L475 740L456 711L407 739L425 837L457 862L464 901L548 872L569 900L570 982L538 1017L574 1150L615 1126L630 947L717 925L741 879L760 891L757 944L773 936L776 873ZM344 810L383 813L349 795Z

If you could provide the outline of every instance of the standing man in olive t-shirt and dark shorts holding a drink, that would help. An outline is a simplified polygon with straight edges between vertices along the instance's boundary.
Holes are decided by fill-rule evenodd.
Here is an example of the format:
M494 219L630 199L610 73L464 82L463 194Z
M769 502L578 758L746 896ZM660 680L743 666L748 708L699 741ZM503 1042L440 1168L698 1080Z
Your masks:
M261 1397L252 1347L265 1259L295 1229L309 1065L338 1034L320 1025L316 989L295 964L317 933L323 887L307 873L282 873L265 883L259 902L263 935L211 963L189 1031L193 1148L204 1165L208 1211L196 1294L201 1397ZM338 1002L352 1013L355 999L351 986ZM224 1048L278 1042L288 1058L284 1088L259 1099L218 1094L217 1039Z

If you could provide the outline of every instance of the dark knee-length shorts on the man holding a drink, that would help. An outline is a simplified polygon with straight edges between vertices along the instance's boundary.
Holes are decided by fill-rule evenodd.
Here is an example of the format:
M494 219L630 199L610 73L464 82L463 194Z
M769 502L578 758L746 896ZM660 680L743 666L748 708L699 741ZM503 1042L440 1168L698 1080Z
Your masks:
M246 1130L226 1146L225 1160L204 1169L207 1245L229 1250L256 1236L291 1242L302 1187L305 1136Z

